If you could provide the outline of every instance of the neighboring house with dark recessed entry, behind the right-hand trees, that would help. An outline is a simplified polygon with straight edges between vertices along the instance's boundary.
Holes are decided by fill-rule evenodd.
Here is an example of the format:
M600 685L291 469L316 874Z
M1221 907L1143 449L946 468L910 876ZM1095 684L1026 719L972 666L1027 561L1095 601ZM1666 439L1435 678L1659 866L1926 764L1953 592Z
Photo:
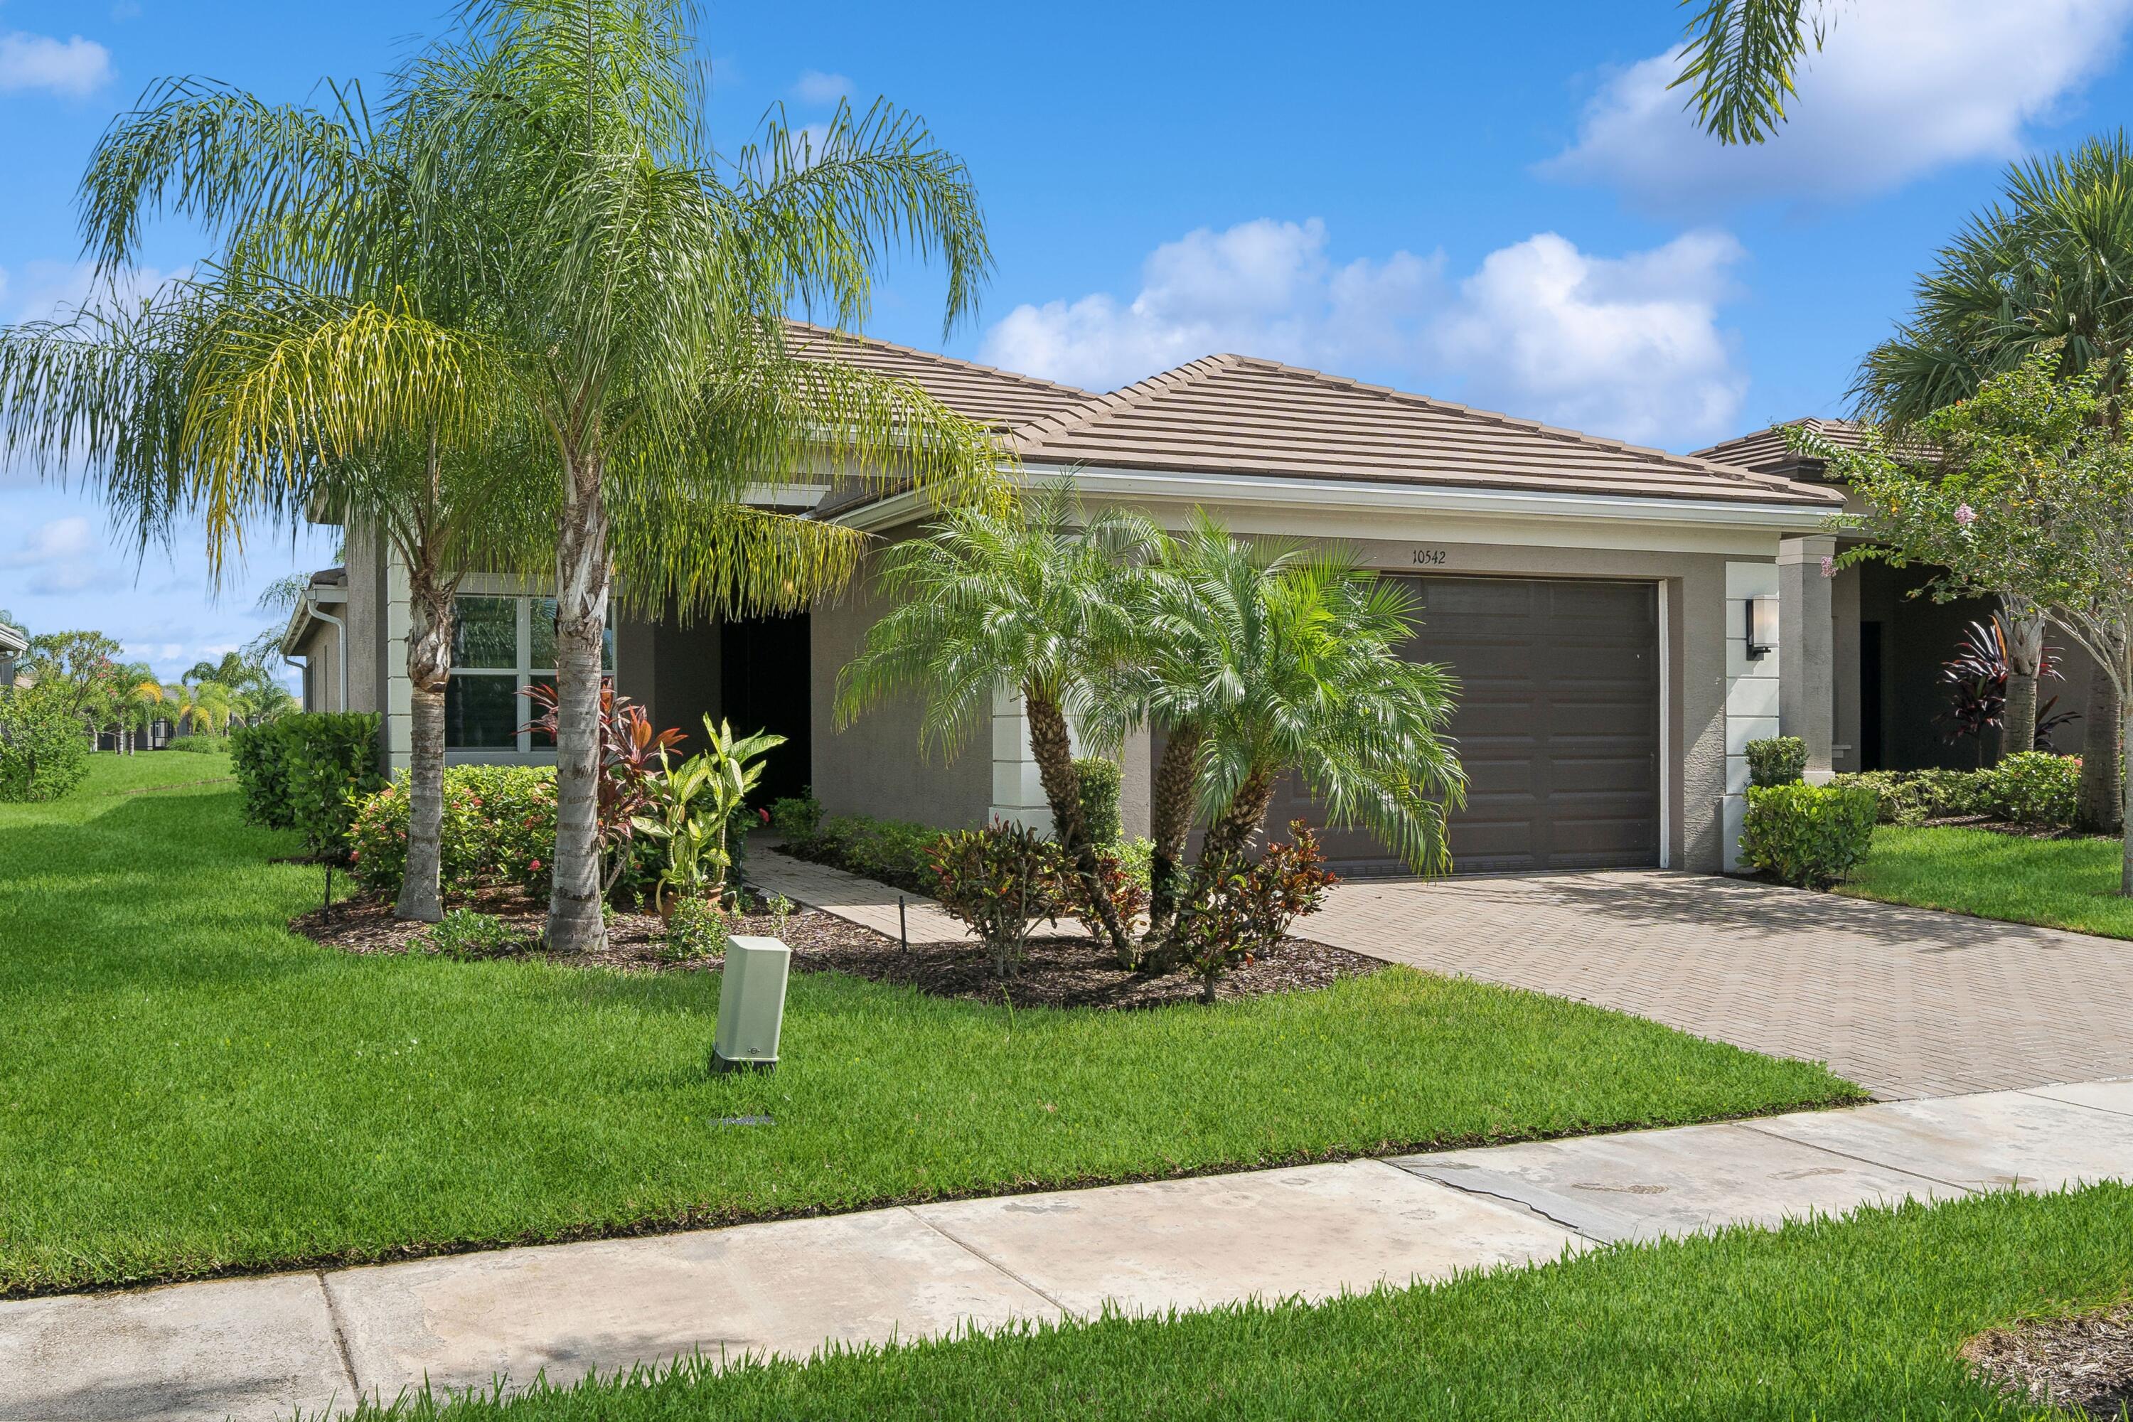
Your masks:
M1698 450L1696 456L1805 484L1822 484L1843 492L1847 507L1856 512L1858 499L1830 478L1824 460L1785 448L1785 431L1792 426L1805 426L1841 448L1858 448L1864 439L1864 426L1851 420L1785 420ZM1839 535L1839 546L1856 542L1860 539ZM1947 710L1950 693L1941 680L1941 667L1958 655L1958 644L1971 623L1992 618L1999 599L1935 601L1924 588L1937 571L1869 561L1841 569L1830 580L1830 697L1834 716L1830 759L1837 770L1969 770L1977 765L1979 746L1975 742L1950 744L1943 740L1947 725L1937 718ZM2063 635L2046 640L2060 652L2063 680L2043 682L2037 699L2043 704L2056 697L2054 714L2080 712L2088 701L2095 663ZM2056 742L2067 750L2075 750L2080 740L2082 727L2078 723L2056 731ZM1996 736L1982 750L1990 761L1999 750Z

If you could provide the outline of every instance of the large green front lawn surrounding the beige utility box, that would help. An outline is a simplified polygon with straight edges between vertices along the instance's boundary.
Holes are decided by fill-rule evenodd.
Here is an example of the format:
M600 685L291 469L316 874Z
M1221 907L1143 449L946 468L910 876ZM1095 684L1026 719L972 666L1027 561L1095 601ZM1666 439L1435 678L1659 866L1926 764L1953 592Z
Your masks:
M143 765L147 763L147 765ZM0 1292L1851 1098L1634 1017L1397 970L1150 1013L793 979L785 1066L706 1070L710 974L352 957L215 759L0 806ZM770 1115L772 1126L721 1126Z

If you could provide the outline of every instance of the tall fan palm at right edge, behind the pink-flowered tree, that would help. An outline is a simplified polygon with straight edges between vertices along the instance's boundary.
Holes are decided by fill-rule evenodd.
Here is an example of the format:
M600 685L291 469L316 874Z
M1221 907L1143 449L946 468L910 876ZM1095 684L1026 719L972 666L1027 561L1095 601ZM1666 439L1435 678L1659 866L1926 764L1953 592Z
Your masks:
M1866 354L1851 392L1860 416L1901 431L2037 354L2050 354L2060 375L2101 371L2103 420L2114 429L2124 420L2133 379L2133 143L2124 132L2007 168L2003 198L1920 275L1911 316ZM2026 750L2037 738L2043 627L2020 599L2005 614L2016 652L2005 742ZM2118 725L2110 680L2092 676L2080 793L2082 823L2092 829L2114 829L2122 812Z

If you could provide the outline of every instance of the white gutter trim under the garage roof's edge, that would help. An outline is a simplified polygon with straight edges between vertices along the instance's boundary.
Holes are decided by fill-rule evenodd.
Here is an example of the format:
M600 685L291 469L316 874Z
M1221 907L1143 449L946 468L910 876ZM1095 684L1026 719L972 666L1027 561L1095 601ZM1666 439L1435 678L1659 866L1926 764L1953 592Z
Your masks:
M1459 488L1384 484L1374 480L1303 480L1284 475L1173 473L1154 469L1090 469L1024 465L1026 482L1073 478L1088 492L1113 499L1162 499L1203 505L1342 510L1357 514L1480 514L1497 518L1604 518L1659 524L1704 524L1768 533L1826 533L1839 505L1745 503L1732 499L1653 499L1534 488ZM904 490L862 503L830 522L881 529L924 514L926 497Z

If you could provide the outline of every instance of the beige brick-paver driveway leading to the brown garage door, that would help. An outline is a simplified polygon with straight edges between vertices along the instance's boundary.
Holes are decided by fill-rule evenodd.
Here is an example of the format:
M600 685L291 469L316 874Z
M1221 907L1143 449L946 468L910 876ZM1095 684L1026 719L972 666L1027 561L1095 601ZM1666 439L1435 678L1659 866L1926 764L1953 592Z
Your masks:
M1668 872L1354 880L1297 934L1828 1062L1875 1096L2133 1074L2133 942Z

